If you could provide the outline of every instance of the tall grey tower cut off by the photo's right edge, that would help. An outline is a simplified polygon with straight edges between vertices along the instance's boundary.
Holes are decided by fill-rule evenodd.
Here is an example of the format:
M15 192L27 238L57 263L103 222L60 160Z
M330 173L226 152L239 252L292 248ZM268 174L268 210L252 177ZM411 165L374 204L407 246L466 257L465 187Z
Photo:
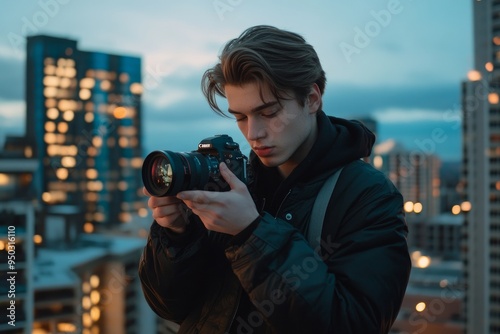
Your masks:
M500 333L500 1L473 0L474 69L462 85L466 332Z

